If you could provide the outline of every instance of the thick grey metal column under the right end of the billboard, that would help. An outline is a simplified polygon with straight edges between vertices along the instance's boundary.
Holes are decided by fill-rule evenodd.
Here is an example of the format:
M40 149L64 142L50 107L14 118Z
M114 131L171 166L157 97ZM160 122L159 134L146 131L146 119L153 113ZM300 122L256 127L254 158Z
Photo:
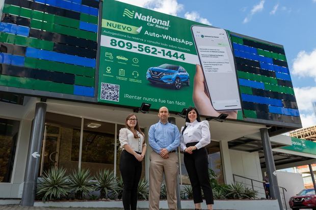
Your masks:
M260 129L262 147L264 148L265 160L267 166L267 173L269 175L270 193L272 199L278 199L280 210L283 210L281 193L278 185L278 179L276 176L276 170L274 165L272 147L270 137L267 128Z

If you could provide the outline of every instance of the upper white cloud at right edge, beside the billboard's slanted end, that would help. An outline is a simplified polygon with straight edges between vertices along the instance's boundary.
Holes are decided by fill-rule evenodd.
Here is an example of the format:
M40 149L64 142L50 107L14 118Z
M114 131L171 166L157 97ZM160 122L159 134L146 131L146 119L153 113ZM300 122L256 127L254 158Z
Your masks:
M292 74L299 77L312 77L316 81L316 49L310 53L303 50L297 54Z

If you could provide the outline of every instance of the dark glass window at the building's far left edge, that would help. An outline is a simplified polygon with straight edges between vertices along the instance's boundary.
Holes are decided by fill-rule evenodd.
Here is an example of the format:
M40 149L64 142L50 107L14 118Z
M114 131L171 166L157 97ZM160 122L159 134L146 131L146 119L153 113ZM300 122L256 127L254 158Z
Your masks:
M10 183L20 122L0 118L0 183Z

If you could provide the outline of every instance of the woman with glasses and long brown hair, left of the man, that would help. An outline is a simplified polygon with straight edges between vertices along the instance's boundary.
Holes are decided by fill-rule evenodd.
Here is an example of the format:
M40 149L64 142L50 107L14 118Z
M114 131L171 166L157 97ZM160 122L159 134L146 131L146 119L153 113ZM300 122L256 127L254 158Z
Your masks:
M147 145L134 113L127 115L125 128L120 130L119 140L122 149L120 171L123 179L123 206L125 210L136 210L138 183Z

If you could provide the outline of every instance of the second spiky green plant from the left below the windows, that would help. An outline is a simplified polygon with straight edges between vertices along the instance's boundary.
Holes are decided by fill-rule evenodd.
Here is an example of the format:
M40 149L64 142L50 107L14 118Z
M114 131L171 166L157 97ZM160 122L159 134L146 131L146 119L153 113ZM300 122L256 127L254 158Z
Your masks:
M80 169L73 171L70 176L70 187L75 198L83 199L83 196L89 195L95 190L95 182L92 182L93 176L90 176L90 170Z

